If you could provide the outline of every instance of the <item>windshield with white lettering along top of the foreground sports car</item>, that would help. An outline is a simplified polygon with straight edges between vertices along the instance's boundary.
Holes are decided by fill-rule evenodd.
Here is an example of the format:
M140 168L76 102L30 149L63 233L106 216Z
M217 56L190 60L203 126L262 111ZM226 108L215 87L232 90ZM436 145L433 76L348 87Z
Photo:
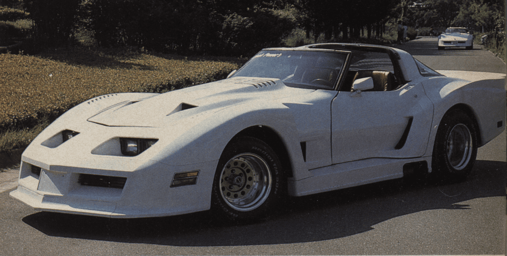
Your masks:
M261 51L232 77L280 79L287 86L334 89L347 53L318 51Z

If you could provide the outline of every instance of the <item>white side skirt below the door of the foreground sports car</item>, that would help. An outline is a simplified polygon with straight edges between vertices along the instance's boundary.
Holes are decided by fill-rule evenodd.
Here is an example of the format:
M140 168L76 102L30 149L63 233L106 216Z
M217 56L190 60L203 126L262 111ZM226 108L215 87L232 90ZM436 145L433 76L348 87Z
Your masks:
M421 161L431 166L429 156L411 159L371 158L313 169L310 170L312 177L289 180L289 195L306 196L401 178L405 164Z

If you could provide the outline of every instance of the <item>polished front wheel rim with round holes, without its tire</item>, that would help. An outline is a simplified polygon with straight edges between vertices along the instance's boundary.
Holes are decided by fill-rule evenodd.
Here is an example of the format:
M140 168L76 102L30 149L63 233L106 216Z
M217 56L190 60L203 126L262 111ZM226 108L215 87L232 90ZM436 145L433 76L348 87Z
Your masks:
M245 153L229 160L221 173L222 198L235 210L253 210L266 201L271 191L271 171L258 155Z

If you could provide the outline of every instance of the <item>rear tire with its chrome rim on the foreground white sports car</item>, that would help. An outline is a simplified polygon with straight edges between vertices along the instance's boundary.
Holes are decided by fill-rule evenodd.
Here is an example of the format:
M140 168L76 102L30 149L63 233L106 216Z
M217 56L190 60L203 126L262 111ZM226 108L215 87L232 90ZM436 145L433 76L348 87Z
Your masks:
M464 112L454 109L437 130L431 167L439 181L462 180L472 171L477 157L477 132Z

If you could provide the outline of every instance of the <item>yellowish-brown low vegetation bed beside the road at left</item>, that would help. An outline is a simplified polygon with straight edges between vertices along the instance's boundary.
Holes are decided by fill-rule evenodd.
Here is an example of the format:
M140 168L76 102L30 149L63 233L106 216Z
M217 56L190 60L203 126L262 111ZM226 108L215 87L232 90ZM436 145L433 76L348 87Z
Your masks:
M238 62L83 48L2 54L0 131L36 124L107 93L164 92L222 79Z

